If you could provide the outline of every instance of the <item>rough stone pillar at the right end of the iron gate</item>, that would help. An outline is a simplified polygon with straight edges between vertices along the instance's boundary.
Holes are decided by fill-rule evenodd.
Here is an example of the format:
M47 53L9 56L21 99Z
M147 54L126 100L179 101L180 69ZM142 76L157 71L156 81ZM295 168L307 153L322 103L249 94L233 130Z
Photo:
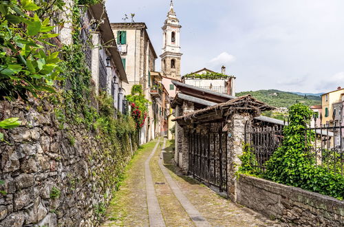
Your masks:
M228 120L228 140L227 140L227 188L228 196L233 202L237 200L237 176L235 173L241 165L239 156L243 154L244 130L247 121L251 121L252 116L248 113L233 114Z

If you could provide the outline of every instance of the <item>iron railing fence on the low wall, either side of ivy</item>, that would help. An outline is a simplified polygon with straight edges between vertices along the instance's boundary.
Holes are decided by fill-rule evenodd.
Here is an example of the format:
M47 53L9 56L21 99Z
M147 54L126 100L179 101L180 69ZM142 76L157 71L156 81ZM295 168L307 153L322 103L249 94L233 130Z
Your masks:
M288 125L288 122L285 122ZM245 125L245 143L248 144L257 160L255 167L266 170L266 161L283 141L283 125L273 127L254 127L250 122ZM332 122L332 126L311 127L304 130L305 158L315 166L323 166L327 171L343 175L344 164L344 127L341 121Z

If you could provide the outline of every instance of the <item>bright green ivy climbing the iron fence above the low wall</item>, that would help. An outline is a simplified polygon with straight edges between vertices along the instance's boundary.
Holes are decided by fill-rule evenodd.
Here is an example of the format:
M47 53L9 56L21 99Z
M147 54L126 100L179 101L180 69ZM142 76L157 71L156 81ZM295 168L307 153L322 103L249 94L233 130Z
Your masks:
M268 160L264 177L277 183L343 199L344 177L329 172L322 166L316 166L312 158L314 155L308 153L314 132L305 129L312 111L297 103L290 107L289 113L290 123L283 129L283 143Z

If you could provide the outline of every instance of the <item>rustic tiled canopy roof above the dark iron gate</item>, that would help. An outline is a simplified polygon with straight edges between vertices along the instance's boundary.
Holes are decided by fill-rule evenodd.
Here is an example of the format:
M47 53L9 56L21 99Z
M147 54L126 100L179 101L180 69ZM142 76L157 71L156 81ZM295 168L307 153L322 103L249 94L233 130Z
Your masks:
M191 120L192 118L197 118L197 116L200 116L202 114L206 114L211 111L217 111L217 110L228 110L230 108L235 109L246 109L247 111L254 110L254 111L265 111L265 110L272 110L275 109L275 107L271 107L267 105L264 102L261 102L255 98L253 98L250 94L246 96L241 96L239 98L235 98L232 100L229 100L228 102L222 102L217 105L214 105L212 107L206 107L204 109L200 109L197 111L193 111L190 114L186 114L184 116L177 117L173 119L173 121L176 120Z

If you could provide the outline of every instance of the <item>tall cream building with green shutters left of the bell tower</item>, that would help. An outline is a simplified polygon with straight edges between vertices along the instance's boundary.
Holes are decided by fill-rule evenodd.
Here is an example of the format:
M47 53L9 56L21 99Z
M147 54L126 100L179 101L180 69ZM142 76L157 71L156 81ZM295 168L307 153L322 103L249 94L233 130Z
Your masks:
M158 56L147 33L145 23L111 23L112 31L118 45L118 52L122 58L122 63L127 73L128 84L125 85L125 91L130 94L133 85L142 85L144 96L149 102L155 102L161 96L151 95L151 86L154 86L151 78L152 72L155 72L155 59ZM147 118L144 127L140 132L140 143L155 138L153 105L149 105L149 118Z

